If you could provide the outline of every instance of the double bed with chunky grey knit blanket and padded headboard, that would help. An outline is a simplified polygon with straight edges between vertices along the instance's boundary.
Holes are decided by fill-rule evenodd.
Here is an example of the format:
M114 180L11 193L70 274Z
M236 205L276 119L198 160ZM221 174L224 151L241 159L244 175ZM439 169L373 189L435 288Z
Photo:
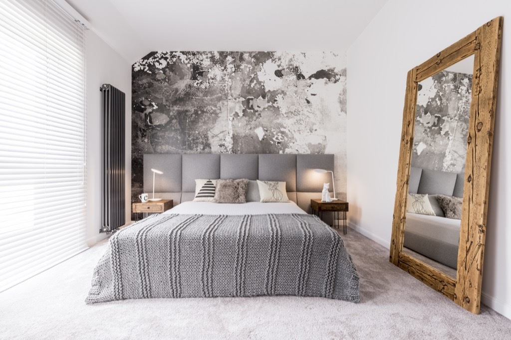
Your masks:
M295 203L320 195L320 189L297 188L311 189L304 174L333 168L333 155L228 155L223 162L220 156L171 155L147 163L145 158L144 168L159 166L172 175L162 181L158 196L180 204L110 237L86 302L264 295L358 302L359 276L342 238L306 213L310 206ZM291 202L190 202L194 179L222 177L284 180Z

